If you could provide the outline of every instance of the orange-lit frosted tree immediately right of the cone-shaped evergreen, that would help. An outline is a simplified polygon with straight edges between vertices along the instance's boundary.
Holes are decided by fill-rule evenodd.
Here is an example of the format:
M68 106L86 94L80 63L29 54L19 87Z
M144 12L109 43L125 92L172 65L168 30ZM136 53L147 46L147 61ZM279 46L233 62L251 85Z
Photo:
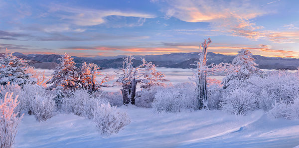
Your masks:
M100 67L97 64L86 62L82 63L80 66L80 83L81 87L88 89L90 93L100 89L101 87L109 87L104 85L104 83L113 79L110 75L105 75L104 78L100 79L100 82L96 80L97 76L104 75L99 71Z

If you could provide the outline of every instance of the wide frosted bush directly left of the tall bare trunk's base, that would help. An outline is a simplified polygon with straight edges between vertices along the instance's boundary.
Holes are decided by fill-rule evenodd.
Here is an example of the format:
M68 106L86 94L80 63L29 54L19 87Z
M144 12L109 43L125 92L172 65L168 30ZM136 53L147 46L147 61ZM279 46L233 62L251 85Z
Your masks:
M197 103L195 93L195 86L192 83L160 88L154 95L151 106L156 113L195 110Z

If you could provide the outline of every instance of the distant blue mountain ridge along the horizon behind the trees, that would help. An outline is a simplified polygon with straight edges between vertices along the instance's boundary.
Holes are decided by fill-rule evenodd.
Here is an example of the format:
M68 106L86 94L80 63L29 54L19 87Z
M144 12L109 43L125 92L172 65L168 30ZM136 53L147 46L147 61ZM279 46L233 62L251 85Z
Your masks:
M55 63L58 63L58 58L61 55L58 54L22 54L19 52L14 52L13 55L20 58L36 61L36 64L32 64L34 67L38 68L47 68L53 69L57 66ZM96 63L101 68L119 68L123 65L123 57L119 56L97 56L97 57L74 57L74 61L77 63L76 66L80 66L83 62L87 63ZM142 63L141 58L145 58L147 61L151 61L153 64L158 65L159 67L170 67L170 68L195 68L193 65L195 61L198 61L198 53L171 53L163 55L133 55L135 59L133 60L134 66L140 65ZM232 60L235 56L232 55L223 55L219 53L208 52L207 53L207 64L215 63L219 64L232 63ZM261 69L290 69L296 70L299 67L299 59L295 58L281 58L281 57L265 57L261 55L253 55L253 58L256 59L256 63L259 64ZM47 66L48 65L48 66Z

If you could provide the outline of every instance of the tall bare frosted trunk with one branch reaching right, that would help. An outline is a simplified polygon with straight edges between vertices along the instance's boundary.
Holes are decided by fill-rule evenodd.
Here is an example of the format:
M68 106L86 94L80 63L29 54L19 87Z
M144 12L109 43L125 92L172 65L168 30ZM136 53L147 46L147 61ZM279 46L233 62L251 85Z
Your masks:
M210 38L208 38L208 41L204 40L204 42L199 46L199 61L195 62L196 64L192 64L197 66L194 73L196 77L196 99L198 109L208 109L207 75L223 76L235 70L235 67L228 63L207 65L207 48L211 42Z

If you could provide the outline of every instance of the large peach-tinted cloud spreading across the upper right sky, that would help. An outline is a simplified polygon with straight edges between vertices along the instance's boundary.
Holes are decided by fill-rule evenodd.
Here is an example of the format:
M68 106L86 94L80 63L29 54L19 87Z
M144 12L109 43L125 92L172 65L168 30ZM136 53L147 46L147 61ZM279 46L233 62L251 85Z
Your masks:
M167 18L176 17L186 22L208 22L211 29L227 35L241 36L252 40L267 39L275 43L294 43L299 38L298 31L265 30L264 26L257 25L253 18L273 13L274 10L261 7L249 0L165 0L162 11ZM270 3L277 2L271 1ZM285 27L295 29L294 24ZM194 34L191 31L200 29L177 30L184 34ZM204 30L203 30L204 31Z

